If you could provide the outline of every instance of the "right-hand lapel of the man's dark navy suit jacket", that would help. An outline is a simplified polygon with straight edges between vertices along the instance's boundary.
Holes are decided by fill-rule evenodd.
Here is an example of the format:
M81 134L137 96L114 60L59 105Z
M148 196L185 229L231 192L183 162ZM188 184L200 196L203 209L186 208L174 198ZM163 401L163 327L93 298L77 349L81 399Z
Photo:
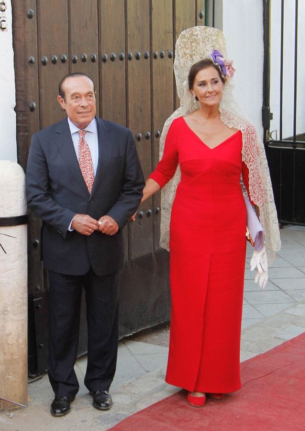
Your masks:
M98 164L91 196L95 193L97 187L101 187L102 185L113 150L112 138L109 133L110 127L100 118L96 118L96 125L98 136Z

